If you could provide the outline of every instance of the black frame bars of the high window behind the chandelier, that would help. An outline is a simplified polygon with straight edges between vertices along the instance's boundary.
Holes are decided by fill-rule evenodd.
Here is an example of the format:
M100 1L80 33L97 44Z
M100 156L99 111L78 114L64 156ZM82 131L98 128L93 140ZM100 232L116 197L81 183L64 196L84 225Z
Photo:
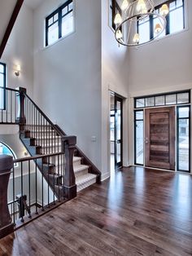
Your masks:
M183 9L183 29L185 29L185 0L181 0L182 1L182 9ZM169 5L170 3L172 2L175 2L177 4L177 0L168 0L167 2L163 2L163 4L167 4L168 5L168 10L169 9ZM160 7L162 7L162 4L159 4L158 6L155 7L155 11L156 10L159 10ZM174 11L174 10L177 10L178 8L181 8L181 7L176 7L175 9L171 10L168 12L168 15L165 16L166 20L167 20L167 25L166 25L166 28L165 28L165 35L168 35L168 34L172 34L170 33L170 12ZM149 23L149 31L150 31L150 38L149 40L155 38L155 35L154 35L154 19L152 16L150 16L150 19L147 20L146 22ZM137 33L139 33L139 20L137 21Z

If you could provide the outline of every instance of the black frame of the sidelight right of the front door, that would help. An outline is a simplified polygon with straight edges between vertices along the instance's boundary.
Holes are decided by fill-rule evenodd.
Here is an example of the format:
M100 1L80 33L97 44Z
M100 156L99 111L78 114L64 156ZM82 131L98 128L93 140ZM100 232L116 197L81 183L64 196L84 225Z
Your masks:
M179 108L189 108L189 117L179 117ZM190 105L177 106L177 170L185 173L190 173ZM189 120L189 170L179 169L179 121L188 119Z

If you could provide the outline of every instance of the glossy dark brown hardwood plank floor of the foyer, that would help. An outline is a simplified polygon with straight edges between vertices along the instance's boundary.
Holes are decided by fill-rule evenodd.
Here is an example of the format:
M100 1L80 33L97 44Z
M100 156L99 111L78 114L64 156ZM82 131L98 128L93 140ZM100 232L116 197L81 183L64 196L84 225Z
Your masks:
M192 255L192 176L116 171L2 239L0 255Z

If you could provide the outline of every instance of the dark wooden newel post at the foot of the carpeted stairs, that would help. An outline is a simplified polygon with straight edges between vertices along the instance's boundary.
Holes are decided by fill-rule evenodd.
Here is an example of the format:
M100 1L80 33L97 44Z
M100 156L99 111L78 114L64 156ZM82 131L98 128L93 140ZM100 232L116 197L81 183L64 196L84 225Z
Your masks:
M73 170L73 154L76 136L62 137L62 152L65 153L64 195L68 200L76 197L76 178Z

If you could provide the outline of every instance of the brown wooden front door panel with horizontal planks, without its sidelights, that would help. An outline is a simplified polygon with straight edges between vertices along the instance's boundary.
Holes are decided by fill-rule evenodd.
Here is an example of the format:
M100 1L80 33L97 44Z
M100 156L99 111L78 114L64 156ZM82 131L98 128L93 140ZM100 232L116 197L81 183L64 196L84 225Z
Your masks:
M175 170L175 108L145 110L146 166Z

